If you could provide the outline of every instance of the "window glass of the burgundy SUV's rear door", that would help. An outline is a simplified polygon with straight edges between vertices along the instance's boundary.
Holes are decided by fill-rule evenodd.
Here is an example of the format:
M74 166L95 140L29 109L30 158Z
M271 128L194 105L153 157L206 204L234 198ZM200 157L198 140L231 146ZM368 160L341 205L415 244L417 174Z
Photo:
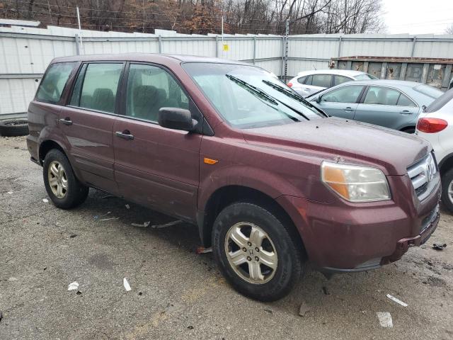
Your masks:
M84 65L77 77L71 106L115 112L115 99L123 64Z

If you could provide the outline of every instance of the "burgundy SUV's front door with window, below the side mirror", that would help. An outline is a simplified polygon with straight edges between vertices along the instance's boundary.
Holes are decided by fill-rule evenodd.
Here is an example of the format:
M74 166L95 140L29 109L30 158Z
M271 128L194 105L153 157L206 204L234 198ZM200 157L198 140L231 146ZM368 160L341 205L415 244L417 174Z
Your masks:
M199 111L163 67L131 63L126 74L122 113L113 128L120 193L195 221L202 135L162 128L157 120L161 107L190 109L194 116Z

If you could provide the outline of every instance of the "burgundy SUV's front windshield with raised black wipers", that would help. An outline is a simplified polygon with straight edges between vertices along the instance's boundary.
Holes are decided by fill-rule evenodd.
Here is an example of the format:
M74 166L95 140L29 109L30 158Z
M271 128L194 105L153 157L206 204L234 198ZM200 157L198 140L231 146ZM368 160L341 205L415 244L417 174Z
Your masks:
M236 128L325 117L273 74L258 67L214 63L185 63L183 67L219 114Z

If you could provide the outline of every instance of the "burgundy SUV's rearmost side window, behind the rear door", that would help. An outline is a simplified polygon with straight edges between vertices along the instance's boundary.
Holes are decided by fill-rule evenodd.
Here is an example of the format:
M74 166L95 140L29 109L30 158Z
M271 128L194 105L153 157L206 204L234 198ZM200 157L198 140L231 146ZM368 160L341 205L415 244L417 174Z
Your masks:
M76 62L59 62L50 65L41 81L38 92L36 92L36 100L45 103L58 103L62 97L64 85L75 66Z

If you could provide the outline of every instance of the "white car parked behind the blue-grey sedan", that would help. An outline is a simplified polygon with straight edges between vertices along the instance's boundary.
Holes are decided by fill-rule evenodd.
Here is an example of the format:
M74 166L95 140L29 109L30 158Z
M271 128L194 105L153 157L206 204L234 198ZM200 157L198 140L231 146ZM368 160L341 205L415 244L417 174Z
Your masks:
M346 81L377 79L371 74L350 69L317 69L299 72L297 77L288 81L287 86L303 97Z

